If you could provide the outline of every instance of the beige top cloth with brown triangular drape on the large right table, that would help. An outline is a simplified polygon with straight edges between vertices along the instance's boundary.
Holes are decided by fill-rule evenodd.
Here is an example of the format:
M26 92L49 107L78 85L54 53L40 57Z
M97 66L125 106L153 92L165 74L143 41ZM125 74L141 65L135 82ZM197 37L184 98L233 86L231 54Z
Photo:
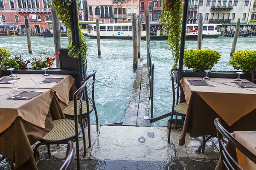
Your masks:
M208 82L216 87L192 86L188 79L201 78L184 77L180 80L186 102L189 103L192 91L195 91L229 126L256 108L256 88L241 88L232 83L233 79L221 78L211 78Z

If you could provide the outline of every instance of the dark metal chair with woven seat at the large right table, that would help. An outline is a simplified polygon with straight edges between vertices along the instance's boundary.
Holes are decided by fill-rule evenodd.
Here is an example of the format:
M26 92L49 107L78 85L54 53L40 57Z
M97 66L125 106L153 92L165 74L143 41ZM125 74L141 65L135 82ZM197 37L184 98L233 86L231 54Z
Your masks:
M175 128L177 128L177 116L186 116L186 111L188 109L188 104L186 102L179 103L179 94L180 94L180 70L177 68L173 68L170 70L170 76L172 80L172 113L170 118L170 125L168 131L168 143L170 143L171 138L171 127L172 127L172 119L175 115ZM177 95L175 91L177 90ZM176 103L175 103L176 100Z

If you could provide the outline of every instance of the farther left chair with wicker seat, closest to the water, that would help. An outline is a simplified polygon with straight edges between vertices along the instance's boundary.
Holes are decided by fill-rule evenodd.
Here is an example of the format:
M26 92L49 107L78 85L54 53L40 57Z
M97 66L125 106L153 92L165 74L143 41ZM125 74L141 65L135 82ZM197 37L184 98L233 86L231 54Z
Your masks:
M90 113L94 110L96 117L96 130L99 131L99 122L98 122L98 114L94 101L94 85L95 85L95 74L96 70L93 70L93 73L90 74L87 78L85 78L81 83L87 82L87 95L91 95L91 98L88 97L89 100L89 111L87 111L87 105L85 105L86 101L83 99L83 108L82 108L82 119L87 118L88 125L88 139L89 139L89 147L91 147L91 137L90 137ZM85 92L85 91L84 91ZM85 97L86 95L84 95ZM89 114L87 114L89 112ZM66 117L73 118L74 117L74 101L69 101L67 107L63 110L63 113Z

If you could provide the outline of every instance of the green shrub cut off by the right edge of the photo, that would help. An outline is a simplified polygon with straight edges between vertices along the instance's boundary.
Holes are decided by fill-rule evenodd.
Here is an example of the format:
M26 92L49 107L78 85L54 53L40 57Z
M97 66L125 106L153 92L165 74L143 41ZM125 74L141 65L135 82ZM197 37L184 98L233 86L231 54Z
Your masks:
M238 50L233 54L230 64L236 70L251 72L256 69L256 51Z

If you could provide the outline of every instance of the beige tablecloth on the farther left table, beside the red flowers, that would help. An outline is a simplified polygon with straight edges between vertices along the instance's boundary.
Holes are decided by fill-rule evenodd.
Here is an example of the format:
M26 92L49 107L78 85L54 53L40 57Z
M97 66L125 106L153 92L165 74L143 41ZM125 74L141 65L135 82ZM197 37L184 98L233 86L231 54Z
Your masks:
M41 74L15 74L20 79L15 82L15 86L20 88L49 88L55 92L58 99L68 105L68 95L71 86L74 84L74 78L70 75L55 75L50 74L51 77L65 77L58 83L43 83L40 84L38 81L44 80ZM0 84L0 88L12 88L12 84Z

